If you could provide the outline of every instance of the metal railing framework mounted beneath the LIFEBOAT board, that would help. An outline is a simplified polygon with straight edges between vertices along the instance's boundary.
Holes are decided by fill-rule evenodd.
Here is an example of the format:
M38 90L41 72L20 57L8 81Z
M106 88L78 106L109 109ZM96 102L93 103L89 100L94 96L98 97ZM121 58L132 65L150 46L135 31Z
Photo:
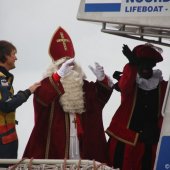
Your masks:
M170 28L102 23L102 32L170 47Z

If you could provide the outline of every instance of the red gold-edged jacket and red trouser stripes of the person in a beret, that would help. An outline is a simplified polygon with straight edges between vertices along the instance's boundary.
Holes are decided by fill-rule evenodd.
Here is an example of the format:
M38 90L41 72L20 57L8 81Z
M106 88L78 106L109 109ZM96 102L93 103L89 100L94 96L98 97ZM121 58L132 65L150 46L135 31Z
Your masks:
M119 80L119 88L121 90L121 105L114 114L109 127L106 132L109 135L109 165L114 166L114 158L117 146L123 145L124 152L122 152L122 168L121 170L141 170L141 159L144 154L144 143L139 141L139 132L130 129L132 115L134 112L137 87L136 87L137 68L131 64L124 67L122 77ZM157 128L160 132L162 125L161 108L167 87L166 81L161 81L158 85L159 106L157 111ZM152 102L152 101L150 101ZM156 107L156 106L155 106ZM152 114L152 113L151 113ZM148 115L149 119L149 115ZM149 131L150 129L148 129ZM152 145L152 166L154 165L157 144ZM117 167L115 167L117 168ZM119 167L120 168L120 167Z

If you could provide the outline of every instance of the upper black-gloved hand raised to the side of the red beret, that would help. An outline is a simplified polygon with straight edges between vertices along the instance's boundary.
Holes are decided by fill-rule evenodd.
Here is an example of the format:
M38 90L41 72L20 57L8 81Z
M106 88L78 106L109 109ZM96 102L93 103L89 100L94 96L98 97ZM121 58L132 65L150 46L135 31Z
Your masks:
M129 60L129 63L135 64L135 65L139 64L139 59L133 54L133 52L130 50L130 48L125 44L123 44L122 53Z

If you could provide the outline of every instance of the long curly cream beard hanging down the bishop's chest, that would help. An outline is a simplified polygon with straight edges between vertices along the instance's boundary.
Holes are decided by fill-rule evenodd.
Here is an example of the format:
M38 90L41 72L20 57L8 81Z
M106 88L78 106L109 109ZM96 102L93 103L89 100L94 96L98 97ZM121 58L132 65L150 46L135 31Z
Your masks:
M60 104L64 112L82 114L85 112L83 75L79 71L71 70L69 75L60 79L65 93L60 97Z

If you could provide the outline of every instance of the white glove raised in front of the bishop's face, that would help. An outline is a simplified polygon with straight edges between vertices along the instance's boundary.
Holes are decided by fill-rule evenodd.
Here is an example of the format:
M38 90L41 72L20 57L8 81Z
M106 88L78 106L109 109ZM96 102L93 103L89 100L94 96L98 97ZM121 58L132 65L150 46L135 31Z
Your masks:
M66 60L62 66L57 70L60 77L66 76L74 67L74 58Z

